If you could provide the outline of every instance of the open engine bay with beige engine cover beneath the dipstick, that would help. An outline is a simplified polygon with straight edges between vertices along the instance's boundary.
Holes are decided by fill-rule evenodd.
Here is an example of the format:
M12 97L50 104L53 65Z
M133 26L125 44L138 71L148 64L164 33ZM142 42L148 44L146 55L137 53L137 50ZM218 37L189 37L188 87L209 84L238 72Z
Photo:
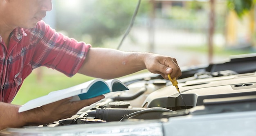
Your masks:
M255 72L234 74L234 72L222 71L222 73L225 73L225 76L201 79L196 79L193 76L178 80L185 103L171 82L159 75L151 74L142 79L129 80L126 84L130 90L108 93L104 100L81 109L72 118L58 120L43 126L168 119L173 116L198 114L202 112L198 107L207 105L207 107L217 105L218 108L203 111L202 114L232 112L237 111L240 107L231 109L230 104L241 103L243 100L246 102L251 100L250 97L254 101L256 100ZM245 98L242 98L243 96ZM227 103L228 105L224 106ZM255 107L247 108L255 109ZM246 110L245 108L240 109Z

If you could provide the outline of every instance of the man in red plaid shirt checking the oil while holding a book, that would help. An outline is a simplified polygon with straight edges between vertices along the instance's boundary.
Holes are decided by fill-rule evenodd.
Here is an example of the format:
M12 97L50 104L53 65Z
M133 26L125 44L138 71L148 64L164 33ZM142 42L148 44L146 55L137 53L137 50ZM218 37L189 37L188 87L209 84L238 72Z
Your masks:
M92 48L56 33L42 20L52 0L0 0L0 130L41 125L68 118L104 96L70 102L70 98L18 113L11 100L23 80L40 66L67 76L81 73L95 78L117 78L148 69L168 79L180 77L175 58L150 53ZM15 121L10 121L15 120Z

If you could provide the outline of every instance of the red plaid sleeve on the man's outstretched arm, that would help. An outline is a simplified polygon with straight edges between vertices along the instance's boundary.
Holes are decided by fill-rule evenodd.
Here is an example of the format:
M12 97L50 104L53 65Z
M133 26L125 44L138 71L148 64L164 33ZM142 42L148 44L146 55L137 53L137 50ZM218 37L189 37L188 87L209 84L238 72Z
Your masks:
M77 42L62 33L57 33L44 22L38 22L38 43L32 58L34 68L46 66L71 77L76 74L91 47L85 42Z

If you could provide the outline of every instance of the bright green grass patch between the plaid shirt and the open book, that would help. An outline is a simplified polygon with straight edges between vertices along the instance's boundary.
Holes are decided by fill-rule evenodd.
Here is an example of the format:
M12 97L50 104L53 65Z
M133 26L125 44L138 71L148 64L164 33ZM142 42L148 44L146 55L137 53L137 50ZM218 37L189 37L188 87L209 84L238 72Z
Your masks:
M37 69L36 69L37 70ZM23 105L29 100L44 96L51 91L65 89L81 84L92 77L76 74L72 78L52 69L42 68L43 74L38 80L36 71L33 71L23 82L18 94L13 99L12 104Z

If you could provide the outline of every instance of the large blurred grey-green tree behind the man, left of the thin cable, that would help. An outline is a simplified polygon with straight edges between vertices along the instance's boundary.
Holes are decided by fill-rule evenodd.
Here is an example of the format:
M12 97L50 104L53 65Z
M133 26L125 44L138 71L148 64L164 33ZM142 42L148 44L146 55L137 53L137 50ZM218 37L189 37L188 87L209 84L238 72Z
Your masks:
M65 5L62 6L62 0L57 1L56 29L67 31L70 37L77 40L83 40L82 37L88 35L94 46L101 46L104 40L122 35L137 5L137 0L78 1L80 6L73 11L67 10ZM147 7L144 3L139 13L145 13Z

